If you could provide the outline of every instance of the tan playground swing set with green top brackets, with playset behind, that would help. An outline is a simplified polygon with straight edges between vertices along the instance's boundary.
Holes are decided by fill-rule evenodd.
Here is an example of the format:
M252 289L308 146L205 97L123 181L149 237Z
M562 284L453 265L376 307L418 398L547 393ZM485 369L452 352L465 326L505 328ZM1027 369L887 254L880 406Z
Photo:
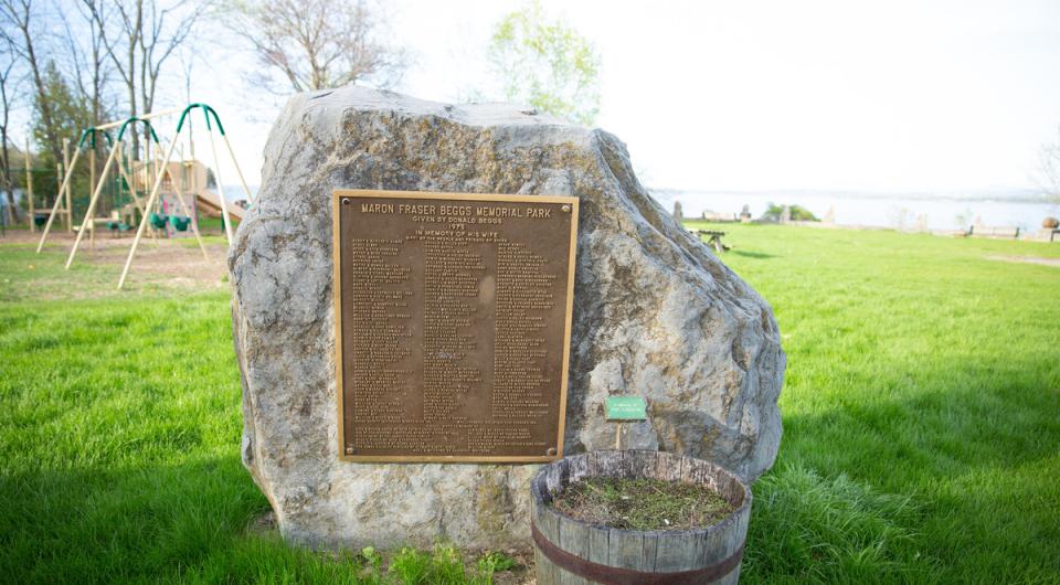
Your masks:
M210 149L213 155L213 176L216 184L216 192L210 190L208 184L208 171L205 166L194 158L194 141L191 136L191 117L194 109L201 109L205 120L206 136L210 141ZM155 126L151 120L161 116L169 116L180 113L177 123L177 129L168 147L159 141L155 132ZM213 120L211 121L211 116ZM173 153L181 138L181 130L187 124L188 127L188 147L190 158L184 158L183 148L181 148L180 158L173 161ZM146 132L139 152L132 152L124 142L126 131L131 128L136 131L137 126L142 125ZM216 111L206 104L193 103L184 108L158 111L144 116L134 116L125 120L114 121L86 128L82 131L74 151L73 159L65 166L65 172L60 172L63 181L59 188L59 194L47 214L46 223L43 226L40 243L36 252L40 253L44 247L44 242L52 228L52 224L57 215L65 215L67 230L76 231L74 245L66 259L66 268L76 257L78 247L86 232L89 234L89 246L94 244L96 224L105 224L113 233L129 232L136 226L136 234L129 248L129 255L121 272L121 278L118 281L118 288L123 288L136 256L136 251L145 232L158 245L158 238L162 235L168 237L179 237L186 234L188 230L194 235L203 257L209 259L205 245L199 233L199 213L212 217L221 217L224 234L227 243L232 243L232 220L243 220L243 208L227 202L224 196L224 183L221 178L220 158L218 157L216 141L213 137L213 127L216 126L218 134L229 151L232 163L235 167L236 174L246 194L246 201L250 205L253 203L253 195L246 185L243 171L240 169L235 152L221 125L221 119ZM117 137L110 138L108 130L118 128ZM109 146L109 153L103 169L99 171L99 178L96 179L96 150L97 135L103 135ZM152 149L153 147L153 149ZM76 169L76 164L83 151L88 151L89 168L92 169L91 184L94 185L88 198L87 210L80 226L72 224L72 206L70 200L71 179ZM165 157L159 155L165 150ZM137 156L139 155L139 156ZM109 216L97 217L95 214L97 204L107 185L110 185L112 211ZM66 194L64 198L63 194ZM117 193L120 196L115 196ZM144 195L144 196L140 196ZM32 196L30 196L32 205ZM65 206L63 205L65 201ZM35 210L31 209L31 216L35 217Z

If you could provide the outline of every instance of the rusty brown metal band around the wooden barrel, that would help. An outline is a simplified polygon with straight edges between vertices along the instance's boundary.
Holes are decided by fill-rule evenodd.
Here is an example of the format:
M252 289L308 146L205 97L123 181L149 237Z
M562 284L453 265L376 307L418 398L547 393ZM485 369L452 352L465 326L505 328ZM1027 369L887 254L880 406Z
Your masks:
M698 585L713 583L728 575L743 560L744 543L741 543L728 559L702 568L671 573L645 573L634 568L602 565L573 555L549 542L533 522L530 523L530 533L541 553L555 566L589 581L607 585Z

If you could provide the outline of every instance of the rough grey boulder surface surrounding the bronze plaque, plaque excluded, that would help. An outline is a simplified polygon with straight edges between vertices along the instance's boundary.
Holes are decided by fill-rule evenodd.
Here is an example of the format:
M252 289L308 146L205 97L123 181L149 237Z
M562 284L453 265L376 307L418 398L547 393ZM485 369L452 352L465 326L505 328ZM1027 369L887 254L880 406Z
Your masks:
M311 546L526 544L536 466L338 459L331 190L571 194L581 200L566 453L612 448L604 400L640 394L624 447L746 479L776 457L784 373L768 305L661 209L614 136L511 106L364 88L293 97L261 196L229 256L243 462L280 531Z

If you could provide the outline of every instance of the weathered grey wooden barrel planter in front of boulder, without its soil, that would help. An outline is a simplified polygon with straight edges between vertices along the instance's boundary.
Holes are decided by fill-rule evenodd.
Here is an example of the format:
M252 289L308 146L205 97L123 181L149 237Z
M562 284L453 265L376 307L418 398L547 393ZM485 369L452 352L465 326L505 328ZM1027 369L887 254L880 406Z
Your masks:
M590 477L654 478L706 485L734 508L696 530L635 531L562 514L552 499ZM728 470L658 451L593 451L550 464L530 483L531 535L539 585L571 583L733 584L740 578L751 490Z

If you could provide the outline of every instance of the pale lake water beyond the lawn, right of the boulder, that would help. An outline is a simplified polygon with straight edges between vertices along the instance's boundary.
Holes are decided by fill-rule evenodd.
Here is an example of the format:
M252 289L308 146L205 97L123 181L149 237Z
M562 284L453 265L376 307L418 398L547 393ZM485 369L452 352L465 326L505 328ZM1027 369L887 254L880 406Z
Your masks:
M754 217L759 217L770 203L802 205L820 219L831 209L839 225L871 227L913 228L918 224L918 217L923 215L929 230L957 230L966 227L978 217L988 226L1019 226L1025 231L1037 231L1045 217L1060 216L1060 205L1025 199L805 193L778 195L677 190L653 191L651 194L667 211L674 209L674 201L680 201L687 219L699 217L708 210L717 213L740 213L744 205L750 208Z

